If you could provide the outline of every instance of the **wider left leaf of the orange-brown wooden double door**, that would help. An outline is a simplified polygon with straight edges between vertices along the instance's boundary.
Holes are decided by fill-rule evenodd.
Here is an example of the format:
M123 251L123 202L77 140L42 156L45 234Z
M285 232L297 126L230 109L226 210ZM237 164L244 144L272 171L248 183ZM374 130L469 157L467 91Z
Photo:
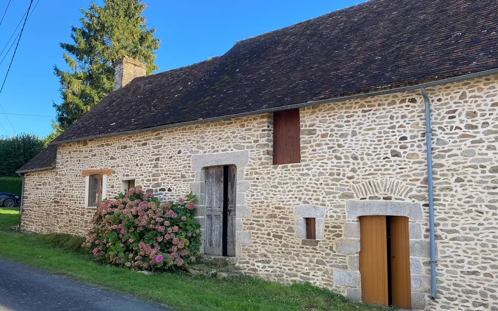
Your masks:
M385 216L360 217L362 300L388 306L387 233Z

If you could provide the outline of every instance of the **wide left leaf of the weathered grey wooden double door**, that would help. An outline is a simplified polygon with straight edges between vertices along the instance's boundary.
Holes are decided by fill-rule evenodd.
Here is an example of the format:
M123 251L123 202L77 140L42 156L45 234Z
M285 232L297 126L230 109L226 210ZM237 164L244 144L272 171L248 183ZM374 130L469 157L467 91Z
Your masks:
M204 253L223 255L223 166L206 168Z

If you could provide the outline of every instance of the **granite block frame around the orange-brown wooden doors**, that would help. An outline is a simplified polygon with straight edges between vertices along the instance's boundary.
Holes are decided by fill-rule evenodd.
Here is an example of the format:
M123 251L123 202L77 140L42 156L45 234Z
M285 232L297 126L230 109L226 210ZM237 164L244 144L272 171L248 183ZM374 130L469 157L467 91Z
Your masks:
M352 300L362 300L360 274L360 216L386 215L408 217L410 238L410 278L412 310L425 308L426 294L430 292L430 276L422 270L422 262L429 260L429 241L422 236L422 207L418 203L386 201L346 201L344 237L336 240L336 251L346 255L348 270L334 271L334 284L346 287Z

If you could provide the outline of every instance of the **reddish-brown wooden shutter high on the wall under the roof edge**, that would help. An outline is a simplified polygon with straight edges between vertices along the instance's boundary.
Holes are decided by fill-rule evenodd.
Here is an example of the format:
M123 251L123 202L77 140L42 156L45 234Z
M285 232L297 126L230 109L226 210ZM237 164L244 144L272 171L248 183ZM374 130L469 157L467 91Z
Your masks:
M299 109L273 112L273 164L299 163Z

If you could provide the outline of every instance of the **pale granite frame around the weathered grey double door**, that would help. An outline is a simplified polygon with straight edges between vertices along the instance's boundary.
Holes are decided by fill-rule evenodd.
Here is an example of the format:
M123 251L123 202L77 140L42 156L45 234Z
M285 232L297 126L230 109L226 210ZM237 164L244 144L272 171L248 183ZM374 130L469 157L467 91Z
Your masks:
M195 219L201 225L201 247L199 252L201 255L204 254L204 229L206 226L206 221L204 219L205 212L205 176L206 168L210 166L221 166L221 165L235 165L237 167L237 196L236 196L236 228L235 228L235 240L236 248L235 255L237 257L241 254L241 244L252 244L251 234L249 231L242 230L242 219L250 218L251 212L248 207L245 206L245 196L249 189L249 182L244 181L244 168L249 163L249 151L235 151L235 152L221 152L221 153L209 153L209 154L194 154L192 155L192 170L195 172L195 181L190 183L190 191L196 195L196 209L195 209Z

